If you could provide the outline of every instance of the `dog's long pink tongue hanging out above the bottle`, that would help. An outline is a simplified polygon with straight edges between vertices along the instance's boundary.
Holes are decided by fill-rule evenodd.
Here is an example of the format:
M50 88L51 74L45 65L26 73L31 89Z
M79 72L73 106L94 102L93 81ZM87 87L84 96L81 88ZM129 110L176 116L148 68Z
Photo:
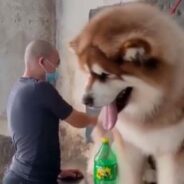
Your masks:
M111 130L117 121L117 107L115 103L111 103L102 108L100 112L100 120L105 130Z

